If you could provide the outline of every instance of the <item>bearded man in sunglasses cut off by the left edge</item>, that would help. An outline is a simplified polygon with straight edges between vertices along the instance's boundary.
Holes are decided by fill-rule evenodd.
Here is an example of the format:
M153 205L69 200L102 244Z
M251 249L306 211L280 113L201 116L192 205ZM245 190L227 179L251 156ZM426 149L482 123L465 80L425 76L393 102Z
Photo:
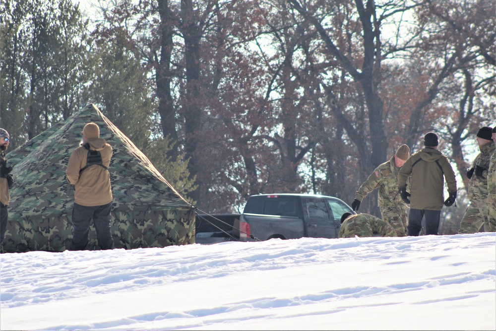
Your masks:
M10 171L12 167L7 167L5 151L9 144L9 135L5 129L0 128L0 250L3 252L2 242L7 229L8 201L10 201L9 189L12 182Z

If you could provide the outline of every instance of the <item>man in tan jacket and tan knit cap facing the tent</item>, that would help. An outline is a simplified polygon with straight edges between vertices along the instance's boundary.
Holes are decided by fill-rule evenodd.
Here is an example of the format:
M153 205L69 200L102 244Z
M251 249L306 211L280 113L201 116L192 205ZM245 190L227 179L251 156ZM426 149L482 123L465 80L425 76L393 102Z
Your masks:
M86 249L91 219L100 249L113 249L110 226L113 197L108 171L112 146L100 138L100 128L95 123L86 124L82 134L81 146L70 155L66 170L67 180L75 190L70 250Z

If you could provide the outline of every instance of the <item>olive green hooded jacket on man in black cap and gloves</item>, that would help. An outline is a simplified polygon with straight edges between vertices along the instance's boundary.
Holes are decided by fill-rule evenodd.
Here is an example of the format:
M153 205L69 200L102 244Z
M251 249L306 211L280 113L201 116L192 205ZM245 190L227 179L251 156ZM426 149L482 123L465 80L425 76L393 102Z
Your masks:
M444 203L444 180L448 193L456 193L456 178L446 156L434 148L426 147L412 154L398 174L398 187L410 182L410 208L441 210Z

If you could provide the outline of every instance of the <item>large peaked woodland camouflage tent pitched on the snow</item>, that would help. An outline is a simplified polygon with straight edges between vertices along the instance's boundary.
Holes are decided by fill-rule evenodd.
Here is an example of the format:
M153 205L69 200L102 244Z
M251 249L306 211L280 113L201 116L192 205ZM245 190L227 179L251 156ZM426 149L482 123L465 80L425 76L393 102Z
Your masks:
M93 104L7 154L15 186L10 190L5 252L69 248L74 191L65 177L67 161L88 122L114 154L110 163L112 234L116 248L194 243L194 207L148 158ZM88 249L98 249L94 226Z

